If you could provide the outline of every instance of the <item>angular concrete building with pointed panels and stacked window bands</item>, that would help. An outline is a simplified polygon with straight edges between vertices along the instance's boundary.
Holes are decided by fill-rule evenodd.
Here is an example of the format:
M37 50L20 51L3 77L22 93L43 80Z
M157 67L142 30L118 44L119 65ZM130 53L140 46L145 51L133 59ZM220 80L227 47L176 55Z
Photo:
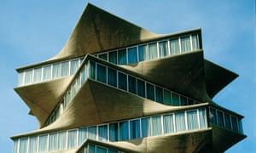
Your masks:
M243 116L212 101L237 75L204 59L201 29L155 34L88 4L55 57L17 69L38 130L13 153L223 152Z

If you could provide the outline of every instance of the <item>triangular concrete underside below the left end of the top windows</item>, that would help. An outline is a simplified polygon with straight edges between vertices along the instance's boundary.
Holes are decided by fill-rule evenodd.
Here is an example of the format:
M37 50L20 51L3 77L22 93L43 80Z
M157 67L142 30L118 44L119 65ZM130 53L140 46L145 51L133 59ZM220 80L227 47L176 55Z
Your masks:
M54 81L15 88L16 93L20 95L20 98L31 109L30 114L37 117L39 127L44 125L51 111L54 110L61 100L61 95L64 94L71 78L65 77Z

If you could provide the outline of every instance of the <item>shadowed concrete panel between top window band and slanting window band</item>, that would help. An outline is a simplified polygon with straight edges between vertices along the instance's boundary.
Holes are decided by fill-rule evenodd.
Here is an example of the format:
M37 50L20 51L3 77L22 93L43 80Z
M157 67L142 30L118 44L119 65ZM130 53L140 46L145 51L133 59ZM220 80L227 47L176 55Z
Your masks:
M203 102L210 102L207 96L203 52L190 52L163 59L148 60L137 65L123 65L135 71L145 80L154 82Z

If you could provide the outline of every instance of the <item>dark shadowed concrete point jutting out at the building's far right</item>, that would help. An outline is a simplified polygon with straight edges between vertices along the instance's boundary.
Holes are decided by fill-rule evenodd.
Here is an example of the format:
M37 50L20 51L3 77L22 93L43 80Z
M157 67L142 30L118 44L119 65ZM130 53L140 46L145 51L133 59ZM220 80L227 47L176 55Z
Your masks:
M207 93L211 98L238 77L236 73L215 65L207 59L205 59L205 73Z

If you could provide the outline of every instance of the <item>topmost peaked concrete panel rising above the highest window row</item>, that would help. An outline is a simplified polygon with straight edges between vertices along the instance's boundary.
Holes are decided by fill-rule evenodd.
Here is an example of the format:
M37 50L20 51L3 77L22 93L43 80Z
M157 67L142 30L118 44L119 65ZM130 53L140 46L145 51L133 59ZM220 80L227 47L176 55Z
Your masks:
M69 59L121 48L160 36L165 35L144 30L89 3L66 45L53 59Z

